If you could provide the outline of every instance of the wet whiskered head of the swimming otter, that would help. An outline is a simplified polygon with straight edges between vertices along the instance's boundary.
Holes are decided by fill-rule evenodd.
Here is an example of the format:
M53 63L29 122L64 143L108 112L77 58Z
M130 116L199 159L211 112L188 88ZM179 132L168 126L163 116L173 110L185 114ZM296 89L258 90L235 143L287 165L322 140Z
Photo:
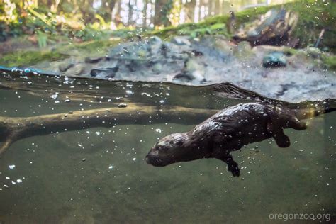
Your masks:
M186 133L175 133L168 135L148 152L146 162L155 167L164 167L175 162L185 161L187 150L184 148Z

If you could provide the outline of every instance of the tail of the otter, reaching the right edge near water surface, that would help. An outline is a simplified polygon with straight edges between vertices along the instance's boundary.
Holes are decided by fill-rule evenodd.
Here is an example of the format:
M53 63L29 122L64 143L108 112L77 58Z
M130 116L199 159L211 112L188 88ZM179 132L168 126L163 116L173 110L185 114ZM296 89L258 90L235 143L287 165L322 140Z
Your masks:
M313 118L323 113L336 111L336 99L325 99L324 101L305 101L296 103L292 107L298 120Z

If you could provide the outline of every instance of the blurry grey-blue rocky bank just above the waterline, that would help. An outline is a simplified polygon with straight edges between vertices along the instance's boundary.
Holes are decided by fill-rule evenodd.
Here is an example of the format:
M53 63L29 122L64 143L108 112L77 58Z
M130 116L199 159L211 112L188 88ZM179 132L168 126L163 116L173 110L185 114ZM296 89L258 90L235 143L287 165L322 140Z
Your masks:
M108 80L207 85L232 82L287 101L336 98L335 72L323 65L326 52L308 47L235 44L227 38L153 36L120 43L103 57L69 57L34 65L47 74Z

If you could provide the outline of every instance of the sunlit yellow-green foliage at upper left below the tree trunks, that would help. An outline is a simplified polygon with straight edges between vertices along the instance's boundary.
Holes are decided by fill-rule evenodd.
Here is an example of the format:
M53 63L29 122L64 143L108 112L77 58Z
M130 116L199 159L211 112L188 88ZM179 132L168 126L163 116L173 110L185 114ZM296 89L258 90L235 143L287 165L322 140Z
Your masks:
M7 38L15 38L20 35L38 35L38 44L46 45L47 35L65 35L68 38L79 38L83 41L88 40L103 40L111 37L111 35L123 35L125 30L111 30L109 24L104 19L96 15L94 23L84 24L80 14L74 15L64 13L61 16L57 13L52 13L49 9L36 8L27 9L28 16L22 16L18 21L6 23L0 21L0 41Z

